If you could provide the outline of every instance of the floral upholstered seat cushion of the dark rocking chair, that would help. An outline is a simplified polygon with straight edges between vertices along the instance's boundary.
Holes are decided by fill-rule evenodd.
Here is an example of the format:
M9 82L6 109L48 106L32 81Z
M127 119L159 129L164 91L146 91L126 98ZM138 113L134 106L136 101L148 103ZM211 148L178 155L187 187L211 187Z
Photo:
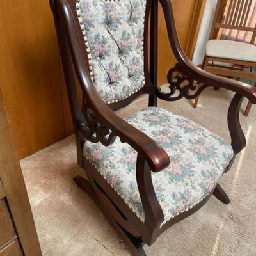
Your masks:
M227 141L164 109L146 108L126 121L150 136L170 156L166 169L152 173L164 223L207 196L232 159L233 150ZM143 222L143 206L136 182L137 152L119 139L109 147L86 141L84 156Z

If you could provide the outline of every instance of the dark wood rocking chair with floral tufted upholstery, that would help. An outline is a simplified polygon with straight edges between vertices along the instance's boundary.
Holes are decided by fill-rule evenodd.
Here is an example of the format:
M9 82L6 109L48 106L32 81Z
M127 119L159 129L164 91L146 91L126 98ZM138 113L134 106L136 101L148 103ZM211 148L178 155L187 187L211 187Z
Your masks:
M256 88L205 72L188 60L179 44L171 2L159 2L178 61L168 72L168 93L157 88L158 1L50 1L77 162L88 177L74 180L137 256L145 255L143 244L150 246L166 228L198 211L211 195L230 202L218 181L246 145L239 124L241 102L246 97L256 104ZM83 92L82 107L76 77ZM209 86L236 93L228 109L231 143L157 108L157 98L195 99ZM143 94L149 96L148 108L125 120L115 114Z

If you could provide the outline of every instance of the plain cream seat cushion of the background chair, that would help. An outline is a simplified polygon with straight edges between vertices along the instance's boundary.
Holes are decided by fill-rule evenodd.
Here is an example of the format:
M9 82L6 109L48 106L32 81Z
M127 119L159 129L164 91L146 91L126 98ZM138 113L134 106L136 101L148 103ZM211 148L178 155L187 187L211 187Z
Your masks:
M256 46L231 40L209 40L206 55L216 58L256 62Z

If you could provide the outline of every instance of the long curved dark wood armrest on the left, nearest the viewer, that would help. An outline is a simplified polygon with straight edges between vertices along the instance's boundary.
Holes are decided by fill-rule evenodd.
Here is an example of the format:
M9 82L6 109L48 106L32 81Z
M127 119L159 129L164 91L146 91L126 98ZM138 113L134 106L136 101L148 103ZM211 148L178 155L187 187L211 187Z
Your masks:
M99 128L98 124L102 125L102 130L98 132L98 135L102 137L106 136L109 133L109 130L111 130L111 133L109 134L110 141L113 141L115 136L120 137L121 141L131 145L138 154L144 157L152 172L163 170L170 164L170 158L164 149L160 147L156 141L152 140L146 134L116 115L100 97L95 86L92 84L89 70L86 67L87 54L85 47L81 46L83 40L79 40L77 32L74 30L74 28L76 28L76 20L74 20L74 17L72 16L71 7L67 0L57 1L57 6L58 15L60 15L60 19L63 20L63 29L67 32L65 34L69 43L68 45L70 45L70 54L74 60L74 69L76 70L82 89L86 92L86 104L84 104L84 108L89 109L97 121L97 124L93 129ZM64 37L65 36L63 36L63 38ZM68 45L66 44L65 47L66 52L69 51ZM86 115L86 113L84 113L84 115ZM89 116L89 118L91 118L91 116ZM84 127L85 125L81 125L81 123L83 123L83 120L81 119L82 118L78 118L77 122L80 123L79 131L84 134L86 133L86 128ZM109 143L104 145L109 145Z

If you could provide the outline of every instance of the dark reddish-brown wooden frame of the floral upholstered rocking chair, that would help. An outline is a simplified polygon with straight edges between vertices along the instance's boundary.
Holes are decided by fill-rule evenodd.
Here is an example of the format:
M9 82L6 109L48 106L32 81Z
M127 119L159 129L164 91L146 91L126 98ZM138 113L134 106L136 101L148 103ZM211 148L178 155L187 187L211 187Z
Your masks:
M175 21L173 19L172 3L169 0L159 0L168 29L168 38L173 54L177 58L177 65L168 72L170 92L161 92L157 88L157 13L158 1L147 0L144 32L144 61L145 86L125 100L112 104L105 104L95 89L90 76L90 65L86 54L83 31L79 26L76 14L77 0L50 0L51 10L54 13L58 44L60 45L65 81L67 84L68 99L74 124L77 147L77 163L84 168L88 181L82 177L74 180L81 189L89 193L104 212L115 230L122 236L131 249L132 255L145 255L143 244L149 246L157 237L178 221L188 217L202 207L213 194L225 204L229 203L228 196L217 184L204 200L188 211L173 217L161 227L164 220L163 211L157 200L152 185L152 172L161 172L170 164L166 152L157 143L143 132L138 131L115 114L115 110L124 108L136 97L148 94L149 106L157 106L157 98L175 101L182 97L195 99L209 86L221 87L235 92L228 109L228 127L234 149L234 158L246 145L246 139L239 123L239 109L243 98L246 97L252 104L256 104L256 88L239 81L232 81L225 77L210 74L196 67L185 56L179 44ZM78 0L79 1L79 0ZM149 15L151 12L151 15ZM150 17L150 20L149 20ZM148 23L150 22L150 29ZM150 30L150 31L148 31ZM148 63L148 33L150 33L150 61ZM149 72L150 70L150 72ZM76 77L83 92L83 106L80 108L76 91ZM194 84L200 83L200 88ZM102 143L105 146L120 137L123 143L128 143L138 152L136 164L136 180L145 212L145 221L141 223L138 217L117 195L115 190L100 175L95 167L83 156L85 140L93 143ZM234 159L227 166L232 166ZM135 177L134 177L135 178Z

